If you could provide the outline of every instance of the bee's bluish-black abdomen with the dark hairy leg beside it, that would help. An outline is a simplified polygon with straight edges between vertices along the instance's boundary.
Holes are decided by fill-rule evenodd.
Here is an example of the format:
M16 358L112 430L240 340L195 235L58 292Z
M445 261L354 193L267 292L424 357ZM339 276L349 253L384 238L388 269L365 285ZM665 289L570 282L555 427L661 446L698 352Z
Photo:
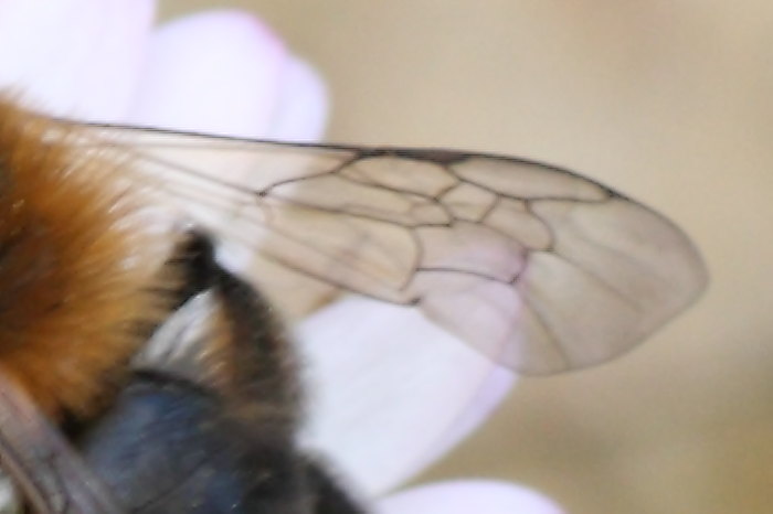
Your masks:
M360 514L296 447L299 387L271 307L215 263L202 236L188 253L181 302L212 289L227 320L225 384L138 371L85 436L84 456L128 512Z

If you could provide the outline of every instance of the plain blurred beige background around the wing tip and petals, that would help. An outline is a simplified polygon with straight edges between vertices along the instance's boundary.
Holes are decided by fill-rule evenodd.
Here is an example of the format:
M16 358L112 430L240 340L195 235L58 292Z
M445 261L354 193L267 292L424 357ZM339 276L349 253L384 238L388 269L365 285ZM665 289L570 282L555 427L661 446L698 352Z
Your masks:
M773 4L166 0L254 11L322 73L329 140L516 153L667 213L707 296L597 370L525 379L419 481L522 482L576 514L773 512Z

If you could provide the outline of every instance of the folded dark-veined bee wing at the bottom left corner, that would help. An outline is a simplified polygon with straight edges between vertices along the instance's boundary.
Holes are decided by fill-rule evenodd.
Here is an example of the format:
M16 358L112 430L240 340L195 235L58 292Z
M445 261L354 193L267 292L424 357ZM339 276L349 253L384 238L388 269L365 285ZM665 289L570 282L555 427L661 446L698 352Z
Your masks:
M124 511L63 435L0 374L0 460L41 514Z

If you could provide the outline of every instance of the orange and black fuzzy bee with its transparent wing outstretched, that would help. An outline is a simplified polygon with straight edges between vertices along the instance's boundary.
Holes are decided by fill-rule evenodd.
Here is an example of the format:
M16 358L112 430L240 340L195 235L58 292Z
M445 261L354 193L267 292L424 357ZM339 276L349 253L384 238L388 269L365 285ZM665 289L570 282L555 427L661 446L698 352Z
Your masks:
M706 283L670 221L541 162L0 100L0 461L36 512L362 512L295 443L276 320L337 295L546 375L631 350Z

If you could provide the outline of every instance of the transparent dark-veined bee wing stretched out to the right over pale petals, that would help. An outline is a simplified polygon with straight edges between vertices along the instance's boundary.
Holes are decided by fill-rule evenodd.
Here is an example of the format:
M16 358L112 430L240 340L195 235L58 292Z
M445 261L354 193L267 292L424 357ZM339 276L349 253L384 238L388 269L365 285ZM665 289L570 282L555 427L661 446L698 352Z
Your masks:
M687 236L569 170L446 150L289 144L91 126L226 246L269 298L311 278L421 309L526 374L603 362L690 304L707 272ZM279 286L276 286L279 283Z

